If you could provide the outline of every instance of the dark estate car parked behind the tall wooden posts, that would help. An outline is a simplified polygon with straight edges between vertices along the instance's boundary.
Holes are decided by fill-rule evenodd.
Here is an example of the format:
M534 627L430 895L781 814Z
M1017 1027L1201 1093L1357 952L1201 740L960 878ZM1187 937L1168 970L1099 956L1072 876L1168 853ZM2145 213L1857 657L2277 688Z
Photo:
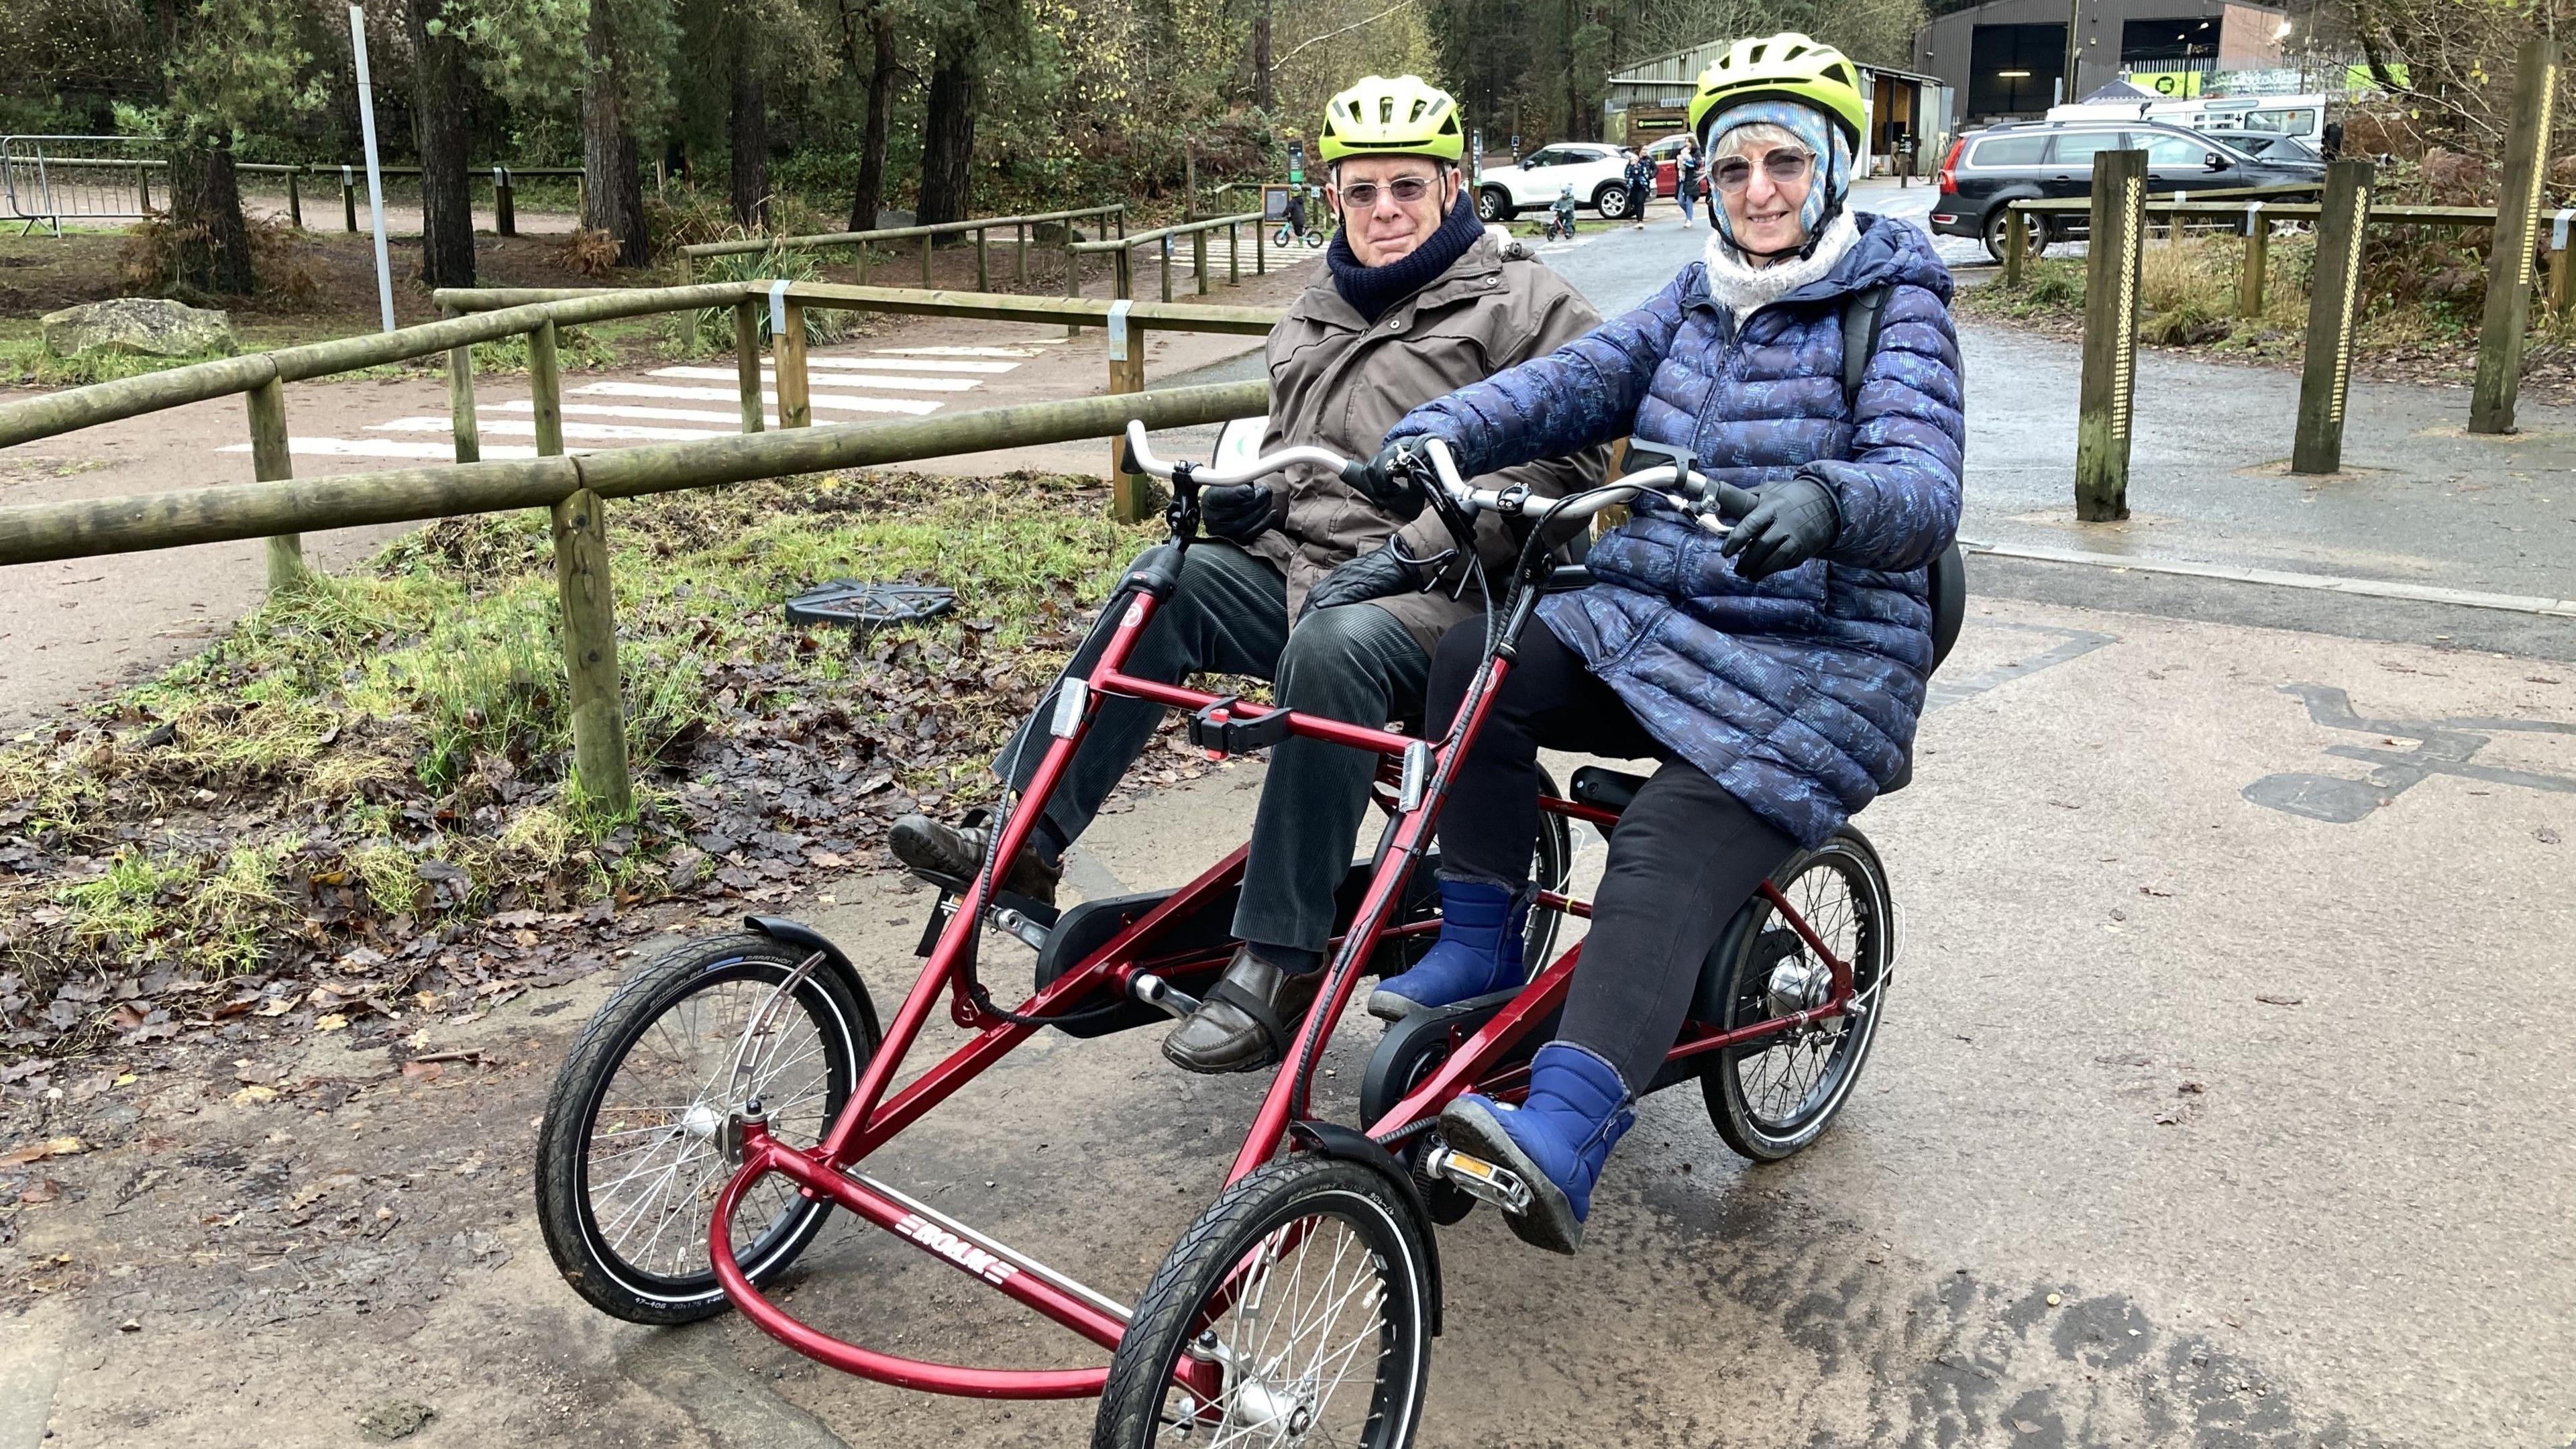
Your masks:
M2318 180L2324 162L2264 160L2221 139L2154 121L2030 121L1989 126L1950 142L1940 162L1940 201L1932 229L1981 237L1986 255L2004 260L2004 204L2025 199L2092 196L2097 152L2143 150L2146 186L2156 193L2215 191L2228 186L2293 186ZM2089 229L2081 214L2030 219L2030 250L2074 240Z

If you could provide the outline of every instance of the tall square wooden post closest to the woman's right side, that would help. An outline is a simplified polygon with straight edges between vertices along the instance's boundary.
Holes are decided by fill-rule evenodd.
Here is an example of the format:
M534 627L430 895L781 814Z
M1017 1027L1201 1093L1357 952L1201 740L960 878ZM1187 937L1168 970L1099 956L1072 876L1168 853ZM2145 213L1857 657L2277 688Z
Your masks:
M2143 240L2146 152L2094 152L2092 240L2084 245L2084 389L2076 410L2076 518L2084 523L2128 518Z

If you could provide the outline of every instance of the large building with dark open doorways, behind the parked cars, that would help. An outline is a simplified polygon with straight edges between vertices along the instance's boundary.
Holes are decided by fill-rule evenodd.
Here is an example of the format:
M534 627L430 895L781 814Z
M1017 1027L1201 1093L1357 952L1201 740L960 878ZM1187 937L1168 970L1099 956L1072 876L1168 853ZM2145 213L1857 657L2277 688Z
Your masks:
M2125 77L2154 95L2197 95L2221 70L2280 64L2280 5L2249 0L1986 0L1914 36L1914 67L1955 98L1953 126L2035 119ZM2066 28L2076 75L2066 75Z

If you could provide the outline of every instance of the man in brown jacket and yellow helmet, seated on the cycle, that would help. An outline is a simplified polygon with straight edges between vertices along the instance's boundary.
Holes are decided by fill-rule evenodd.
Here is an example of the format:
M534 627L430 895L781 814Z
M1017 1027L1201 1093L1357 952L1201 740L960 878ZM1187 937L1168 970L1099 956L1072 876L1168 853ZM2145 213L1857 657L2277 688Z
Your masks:
M1422 77L1363 77L1324 108L1319 147L1327 206L1340 235L1324 273L1270 333L1270 431L1265 451L1324 446L1370 456L1414 405L1497 369L1546 356L1600 322L1556 273L1476 222L1458 173L1458 106ZM1602 451L1525 464L1492 482L1561 495L1597 482ZM1260 676L1280 704L1352 724L1386 724L1422 709L1432 645L1484 603L1473 583L1450 598L1463 559L1432 516L1412 523L1373 505L1340 474L1296 467L1200 495L1216 544L1188 552L1180 588L1136 642L1128 673L1180 681L1198 670ZM1489 562L1512 552L1499 526ZM1005 890L1051 900L1072 846L1118 776L1154 735L1162 709L1103 701L1033 843ZM1043 722L1023 724L1023 737ZM1025 786L1041 748L1007 748L1005 773ZM1288 740L1273 750L1234 913L1242 938L1224 980L1198 1013L1172 1029L1164 1055L1195 1073L1242 1073L1275 1062L1293 1018L1314 1000L1334 928L1334 887L1368 812L1376 755ZM917 869L974 874L984 830L920 815L894 825L894 853ZM1481 905L1481 902L1479 902ZM1525 908L1520 908L1525 910ZM1484 931L1520 920L1486 908ZM1473 926L1461 920L1461 926Z

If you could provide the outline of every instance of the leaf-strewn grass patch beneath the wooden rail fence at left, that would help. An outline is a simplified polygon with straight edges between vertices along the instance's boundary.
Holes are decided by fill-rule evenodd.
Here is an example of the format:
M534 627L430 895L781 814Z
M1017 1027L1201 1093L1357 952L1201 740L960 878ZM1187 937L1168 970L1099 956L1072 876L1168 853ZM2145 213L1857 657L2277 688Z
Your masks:
M82 727L0 745L0 822L23 812L0 833L39 838L54 864L0 887L0 969L258 969L299 938L319 946L299 900L322 887L355 915L471 915L536 879L649 900L654 848L598 846L662 820L685 784L672 771L744 714L835 706L876 727L927 686L963 724L940 748L904 740L904 784L989 789L1010 696L1149 541L1103 516L1092 480L1028 474L683 492L613 503L608 531L636 817L569 779L546 518L446 521L276 596ZM786 627L781 601L829 578L945 583L958 611L863 647ZM979 673L956 686L933 657ZM430 890L422 861L466 884Z

